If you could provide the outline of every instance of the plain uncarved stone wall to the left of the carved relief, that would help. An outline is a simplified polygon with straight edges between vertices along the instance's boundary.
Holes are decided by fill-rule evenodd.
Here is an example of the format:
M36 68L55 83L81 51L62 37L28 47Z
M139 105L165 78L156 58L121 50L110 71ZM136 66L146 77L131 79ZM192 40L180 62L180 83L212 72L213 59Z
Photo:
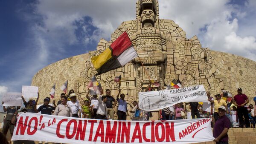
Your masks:
M56 83L55 101L60 99L63 91L61 85L68 80L68 91L74 88L75 79L80 77L80 73L85 69L85 61L88 54L81 54L67 59L54 62L38 71L32 79L33 86L39 87L40 98L38 104L43 104L45 97L49 96L52 85Z

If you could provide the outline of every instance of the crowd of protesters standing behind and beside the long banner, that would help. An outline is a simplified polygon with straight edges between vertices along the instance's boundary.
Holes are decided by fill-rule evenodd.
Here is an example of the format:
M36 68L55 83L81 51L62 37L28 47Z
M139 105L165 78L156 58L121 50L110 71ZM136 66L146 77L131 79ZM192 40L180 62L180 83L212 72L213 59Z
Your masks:
M145 88L145 91L151 91L151 83ZM77 94L74 90L66 95L61 93L61 100L55 104L55 100L46 97L44 104L37 108L38 98L36 101L29 99L28 102L23 98L23 107L21 112L29 113L42 113L55 116L67 116L76 118L87 119L108 119L114 120L115 113L117 120L126 120L127 116L131 116L131 120L134 121L146 121L152 117L151 112L141 110L138 107L138 102L133 102L132 110L128 111L127 102L125 100L125 94L119 93L117 96L111 96L111 90L106 90L105 95L92 95L89 96L89 89L84 99L83 104L80 104ZM256 121L256 109L253 108L253 104L247 106L249 102L247 96L242 93L242 89L237 90L238 94L233 97L231 102L227 102L222 99L225 93L216 94L215 99L211 96L211 93L207 92L208 102L203 104L200 102L183 102L178 103L170 107L166 107L158 111L159 120L174 120L174 119L198 119L198 118L210 118L212 119L212 127L214 127L213 136L216 142L226 142L227 131L230 127L254 127ZM120 95L120 98L119 98ZM116 97L116 99L114 98ZM253 99L256 103L256 97ZM4 102L2 102L4 103ZM118 103L117 111L115 107ZM3 124L3 135L6 136L8 130L12 136L14 125L16 123L17 111L20 107L5 107L3 110L6 113ZM129 115L129 113L131 115ZM155 112L156 113L156 112ZM14 144L22 144L23 141L16 141ZM39 144L48 144L47 141L40 141ZM26 144L34 144L33 141L27 141Z

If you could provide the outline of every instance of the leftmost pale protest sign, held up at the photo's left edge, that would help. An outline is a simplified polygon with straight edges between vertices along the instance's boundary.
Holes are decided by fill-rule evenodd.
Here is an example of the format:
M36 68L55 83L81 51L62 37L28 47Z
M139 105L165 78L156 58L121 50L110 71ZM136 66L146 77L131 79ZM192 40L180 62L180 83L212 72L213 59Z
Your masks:
M3 95L3 106L21 106L21 93L6 93Z

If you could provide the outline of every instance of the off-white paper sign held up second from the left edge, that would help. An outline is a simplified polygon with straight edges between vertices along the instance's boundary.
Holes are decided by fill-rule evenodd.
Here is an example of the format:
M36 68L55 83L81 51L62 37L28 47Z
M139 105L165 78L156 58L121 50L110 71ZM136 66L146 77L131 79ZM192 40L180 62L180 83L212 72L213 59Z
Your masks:
M22 86L22 96L24 98L37 98L38 97L38 87L23 85Z

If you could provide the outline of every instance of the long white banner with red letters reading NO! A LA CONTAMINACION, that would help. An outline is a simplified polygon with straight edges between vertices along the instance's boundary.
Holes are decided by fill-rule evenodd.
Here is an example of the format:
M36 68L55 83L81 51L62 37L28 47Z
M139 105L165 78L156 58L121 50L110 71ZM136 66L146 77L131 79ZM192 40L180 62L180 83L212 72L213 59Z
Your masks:
M109 121L19 113L14 140L68 144L197 143L212 141L211 119Z

